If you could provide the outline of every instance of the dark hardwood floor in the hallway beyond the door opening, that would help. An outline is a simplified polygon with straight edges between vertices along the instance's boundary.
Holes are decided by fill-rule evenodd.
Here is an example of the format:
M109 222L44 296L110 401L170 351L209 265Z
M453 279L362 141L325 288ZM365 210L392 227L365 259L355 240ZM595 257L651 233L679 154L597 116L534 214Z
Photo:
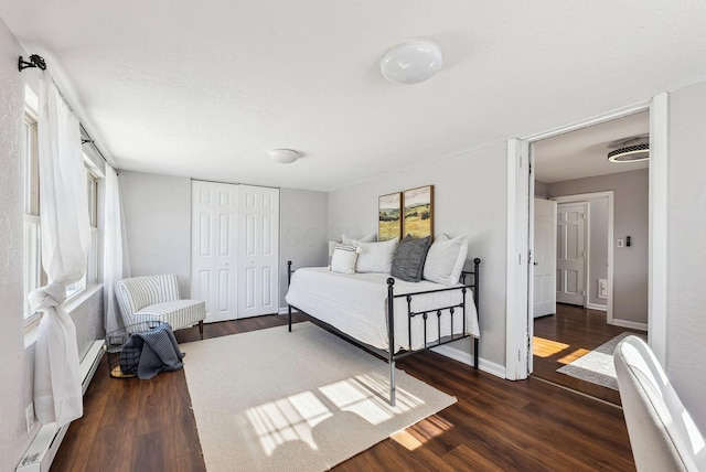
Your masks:
M564 303L557 303L556 311L556 314L534 321L533 375L620 405L620 394L617 390L580 380L556 369L588 354L620 333L644 332L607 324L605 311Z

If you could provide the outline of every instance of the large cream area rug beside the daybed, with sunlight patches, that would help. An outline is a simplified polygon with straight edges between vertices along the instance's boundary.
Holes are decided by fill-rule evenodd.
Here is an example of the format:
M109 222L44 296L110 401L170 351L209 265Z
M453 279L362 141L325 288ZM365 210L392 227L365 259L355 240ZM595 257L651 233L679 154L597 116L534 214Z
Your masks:
M312 323L180 345L206 469L322 471L456 403Z

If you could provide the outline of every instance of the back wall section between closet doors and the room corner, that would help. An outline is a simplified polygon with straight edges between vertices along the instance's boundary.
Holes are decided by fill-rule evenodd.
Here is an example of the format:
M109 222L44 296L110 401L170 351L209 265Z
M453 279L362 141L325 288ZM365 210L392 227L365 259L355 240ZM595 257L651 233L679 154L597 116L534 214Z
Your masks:
M329 216L328 192L281 189L280 251L279 251L279 307L286 311L287 261L292 269L328 266L329 244L327 223Z

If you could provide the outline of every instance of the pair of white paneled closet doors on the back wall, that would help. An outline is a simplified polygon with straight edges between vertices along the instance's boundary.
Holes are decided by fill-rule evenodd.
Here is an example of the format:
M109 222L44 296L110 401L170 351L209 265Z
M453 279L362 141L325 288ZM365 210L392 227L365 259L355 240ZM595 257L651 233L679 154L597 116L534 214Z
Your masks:
M277 313L279 190L192 182L191 298L206 322Z

